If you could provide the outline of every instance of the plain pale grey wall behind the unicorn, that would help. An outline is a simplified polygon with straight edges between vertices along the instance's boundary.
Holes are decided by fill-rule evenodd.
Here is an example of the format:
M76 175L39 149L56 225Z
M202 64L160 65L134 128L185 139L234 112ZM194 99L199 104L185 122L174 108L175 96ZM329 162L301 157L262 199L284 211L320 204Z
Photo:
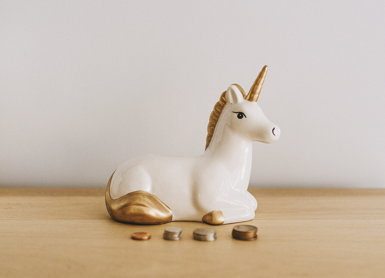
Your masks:
M0 185L105 186L199 155L214 104L269 70L251 186L385 188L383 1L2 1Z

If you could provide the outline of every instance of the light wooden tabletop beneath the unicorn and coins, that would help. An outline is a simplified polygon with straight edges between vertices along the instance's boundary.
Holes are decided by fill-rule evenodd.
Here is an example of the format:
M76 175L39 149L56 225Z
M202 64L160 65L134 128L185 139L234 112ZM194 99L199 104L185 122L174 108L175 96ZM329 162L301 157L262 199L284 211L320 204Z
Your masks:
M0 188L0 277L385 277L385 189L250 189L256 241L116 222L104 190ZM194 240L202 227L218 239Z

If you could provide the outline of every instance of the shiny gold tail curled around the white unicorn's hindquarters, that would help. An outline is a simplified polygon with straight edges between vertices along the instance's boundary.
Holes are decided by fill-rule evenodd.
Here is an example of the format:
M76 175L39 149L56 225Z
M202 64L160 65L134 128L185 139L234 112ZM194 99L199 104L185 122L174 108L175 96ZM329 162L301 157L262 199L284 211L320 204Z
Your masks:
M105 206L112 219L134 224L162 224L172 221L171 209L146 191L134 191L121 198L111 199L111 179L112 176L105 191Z

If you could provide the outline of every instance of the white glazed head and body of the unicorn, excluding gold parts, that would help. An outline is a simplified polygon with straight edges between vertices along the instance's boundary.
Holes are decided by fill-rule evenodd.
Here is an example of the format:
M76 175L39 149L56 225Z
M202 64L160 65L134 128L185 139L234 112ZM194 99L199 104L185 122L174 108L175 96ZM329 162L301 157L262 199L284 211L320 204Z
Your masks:
M244 99L235 85L226 95L227 103L202 155L131 159L112 176L111 198L147 191L171 209L172 221L202 221L205 214L216 209L223 213L223 224L253 219L257 201L247 191L252 142L275 142L280 129L264 116L256 102ZM234 112L245 116L239 119Z

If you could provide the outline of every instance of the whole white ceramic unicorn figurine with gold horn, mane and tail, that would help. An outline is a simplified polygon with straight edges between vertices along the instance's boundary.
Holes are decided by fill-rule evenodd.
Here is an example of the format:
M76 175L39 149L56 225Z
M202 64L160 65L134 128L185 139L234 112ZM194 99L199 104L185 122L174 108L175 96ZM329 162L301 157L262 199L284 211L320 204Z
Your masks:
M247 191L252 143L272 143L280 128L256 103L264 66L246 95L238 84L223 92L211 113L206 150L200 156L143 156L112 174L105 193L110 216L136 224L203 221L218 225L254 218Z

